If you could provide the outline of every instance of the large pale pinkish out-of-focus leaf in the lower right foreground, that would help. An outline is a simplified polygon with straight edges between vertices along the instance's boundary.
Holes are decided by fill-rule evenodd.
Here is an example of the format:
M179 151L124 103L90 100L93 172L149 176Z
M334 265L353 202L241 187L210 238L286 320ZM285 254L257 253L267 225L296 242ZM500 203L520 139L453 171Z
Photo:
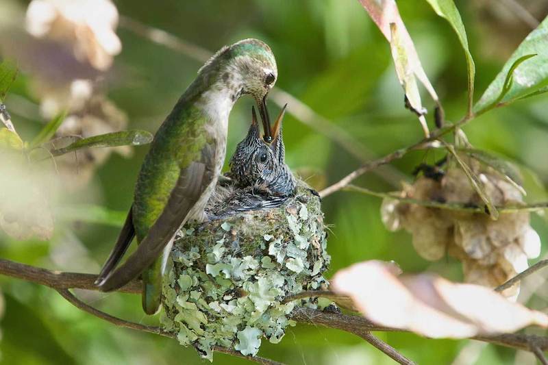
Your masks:
M430 338L469 338L548 327L548 316L513 303L490 288L456 284L437 275L398 277L386 262L366 261L338 271L331 288L351 297L378 325Z

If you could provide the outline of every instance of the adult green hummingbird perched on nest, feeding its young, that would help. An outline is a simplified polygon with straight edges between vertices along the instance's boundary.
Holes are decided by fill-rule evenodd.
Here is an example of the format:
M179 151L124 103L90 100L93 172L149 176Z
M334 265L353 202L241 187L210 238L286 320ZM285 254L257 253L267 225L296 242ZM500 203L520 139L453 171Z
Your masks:
M240 96L251 95L260 111L264 140L271 142L266 95L276 79L274 55L256 39L223 47L199 69L142 163L133 205L96 281L101 290L116 290L141 274L143 310L158 311L175 232L189 219L206 218L203 210L225 160L232 106ZM136 251L114 270L134 236Z

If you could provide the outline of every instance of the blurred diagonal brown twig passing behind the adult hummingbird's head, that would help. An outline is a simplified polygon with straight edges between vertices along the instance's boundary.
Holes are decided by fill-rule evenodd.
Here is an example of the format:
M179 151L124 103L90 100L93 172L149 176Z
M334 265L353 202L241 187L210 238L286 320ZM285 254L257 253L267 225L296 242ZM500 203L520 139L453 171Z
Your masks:
M187 40L182 40L174 34L162 29L142 24L127 16L120 17L120 26L142 38L146 38L158 45L182 53L199 62L205 62L213 55L212 52L199 45L195 45ZM274 88L270 92L270 97L280 108L283 108L283 106L288 103L290 105L288 108L289 114L294 116L298 121L301 121L304 125L307 125L336 142L336 144L345 149L345 151L350 153L360 162L366 162L374 157L375 154L373 152L369 151L363 144L353 138L345 129L338 127L338 125L332 121L319 115L306 103L303 103L303 101L290 95L290 93L285 90ZM405 179L405 175L397 170L397 168L390 166L375 171L375 173L393 186L399 186L399 181Z

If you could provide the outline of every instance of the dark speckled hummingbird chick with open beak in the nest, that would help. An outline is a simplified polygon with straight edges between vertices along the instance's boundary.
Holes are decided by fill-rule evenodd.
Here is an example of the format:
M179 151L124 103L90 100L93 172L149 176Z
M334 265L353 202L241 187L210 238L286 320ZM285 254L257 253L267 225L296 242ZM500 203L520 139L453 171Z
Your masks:
M251 127L230 159L227 177L232 185L216 189L206 208L210 219L278 207L295 194L295 177L286 165L282 138L286 106L271 130L272 142L266 142L266 136L260 136L255 108L251 109Z

